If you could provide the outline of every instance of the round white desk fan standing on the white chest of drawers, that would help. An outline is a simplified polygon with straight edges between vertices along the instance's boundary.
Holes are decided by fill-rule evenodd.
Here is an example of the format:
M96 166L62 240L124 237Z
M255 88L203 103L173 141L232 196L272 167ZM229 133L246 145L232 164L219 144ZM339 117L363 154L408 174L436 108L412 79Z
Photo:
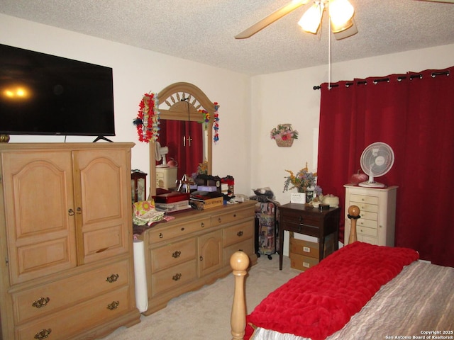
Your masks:
M376 182L374 178L386 174L393 164L394 152L392 148L383 142L372 143L361 154L361 169L369 176L369 181L361 182L358 185L369 188L384 188L384 184Z

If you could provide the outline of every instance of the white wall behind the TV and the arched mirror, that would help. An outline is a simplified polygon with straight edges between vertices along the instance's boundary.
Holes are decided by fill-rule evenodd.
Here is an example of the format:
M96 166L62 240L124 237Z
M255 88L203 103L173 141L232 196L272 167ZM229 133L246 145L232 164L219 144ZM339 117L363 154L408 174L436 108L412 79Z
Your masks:
M250 77L3 14L0 14L0 43L112 67L116 137L111 140L135 142L132 168L148 174L148 144L138 142L132 123L143 94L159 92L177 81L198 86L221 106L220 140L213 147L213 174L235 177L239 193L249 190L250 154L245 145L250 145ZM69 136L66 141L92 140L93 137ZM13 135L10 142L64 141L62 136Z

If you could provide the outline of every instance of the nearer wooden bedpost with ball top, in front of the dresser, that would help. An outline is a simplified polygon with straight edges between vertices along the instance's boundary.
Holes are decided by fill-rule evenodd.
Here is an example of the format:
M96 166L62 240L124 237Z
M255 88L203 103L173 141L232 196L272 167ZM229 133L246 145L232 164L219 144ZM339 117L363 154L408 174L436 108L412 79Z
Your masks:
M246 302L244 295L244 278L248 273L249 257L243 251L236 251L230 258L233 276L235 276L235 293L231 314L232 340L243 340L246 327Z

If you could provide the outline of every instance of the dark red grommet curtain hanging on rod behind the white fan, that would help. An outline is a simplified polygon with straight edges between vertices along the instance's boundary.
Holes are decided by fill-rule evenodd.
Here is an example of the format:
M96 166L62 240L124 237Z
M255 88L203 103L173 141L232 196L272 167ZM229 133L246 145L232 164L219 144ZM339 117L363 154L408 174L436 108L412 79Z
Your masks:
M361 169L362 150L387 143L394 166L377 181L399 186L395 245L443 266L454 266L453 69L321 86L317 172L323 193L338 196L343 207L343 184Z

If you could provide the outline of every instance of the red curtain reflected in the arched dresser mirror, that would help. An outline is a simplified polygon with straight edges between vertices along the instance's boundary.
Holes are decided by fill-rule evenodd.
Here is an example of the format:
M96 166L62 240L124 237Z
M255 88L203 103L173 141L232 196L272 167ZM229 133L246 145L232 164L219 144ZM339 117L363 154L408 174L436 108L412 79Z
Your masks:
M167 161L171 158L177 161L178 179L184 174L192 176L197 171L197 166L204 160L201 123L161 120L160 128L159 142L162 147L169 147Z

